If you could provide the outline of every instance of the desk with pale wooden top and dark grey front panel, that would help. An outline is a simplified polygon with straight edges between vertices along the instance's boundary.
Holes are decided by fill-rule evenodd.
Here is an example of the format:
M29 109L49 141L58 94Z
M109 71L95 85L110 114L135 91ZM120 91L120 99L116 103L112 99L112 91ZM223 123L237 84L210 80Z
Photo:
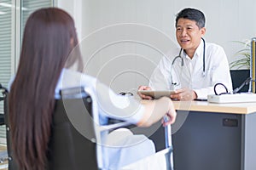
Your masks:
M256 103L211 104L174 101L172 125L175 170L255 170ZM164 148L164 129L154 135Z

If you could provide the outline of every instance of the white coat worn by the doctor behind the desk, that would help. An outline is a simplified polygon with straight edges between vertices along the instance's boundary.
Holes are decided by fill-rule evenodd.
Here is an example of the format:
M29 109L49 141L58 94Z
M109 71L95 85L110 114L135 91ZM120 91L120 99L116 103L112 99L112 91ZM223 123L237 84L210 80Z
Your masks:
M203 46L201 40L192 59L182 51L183 66L182 59L176 59L172 65L172 60L179 54L179 48L166 54L154 70L149 87L155 90L191 88L195 90L198 99L207 99L208 94L214 94L214 85L220 82L231 92L230 67L224 49L217 44L206 42L205 72L203 72ZM172 86L172 82L176 82L177 86Z

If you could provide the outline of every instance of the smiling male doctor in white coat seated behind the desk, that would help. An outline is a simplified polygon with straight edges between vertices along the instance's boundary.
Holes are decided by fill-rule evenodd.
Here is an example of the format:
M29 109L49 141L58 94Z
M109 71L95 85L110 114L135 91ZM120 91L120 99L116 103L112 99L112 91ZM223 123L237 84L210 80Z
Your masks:
M180 48L172 50L154 70L149 86L139 90L175 90L172 99L207 99L214 94L216 83L232 91L230 68L224 48L206 42L205 16L195 8L184 8L177 14L176 38ZM150 96L139 94L142 99Z

